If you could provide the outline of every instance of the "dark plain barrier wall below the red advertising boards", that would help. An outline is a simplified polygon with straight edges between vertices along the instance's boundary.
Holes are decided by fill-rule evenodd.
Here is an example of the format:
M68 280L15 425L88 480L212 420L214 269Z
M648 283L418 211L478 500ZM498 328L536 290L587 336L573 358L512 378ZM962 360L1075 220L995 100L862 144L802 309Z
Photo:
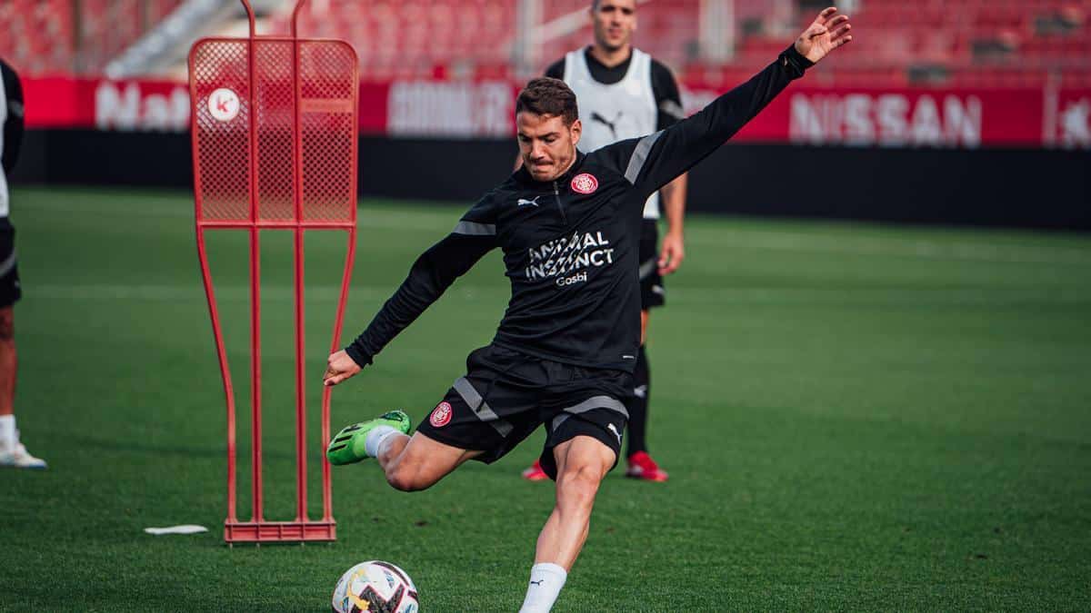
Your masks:
M511 172L514 141L364 137L363 195L461 202ZM187 134L35 131L13 183L192 188ZM692 173L706 213L1091 230L1091 153L728 145Z

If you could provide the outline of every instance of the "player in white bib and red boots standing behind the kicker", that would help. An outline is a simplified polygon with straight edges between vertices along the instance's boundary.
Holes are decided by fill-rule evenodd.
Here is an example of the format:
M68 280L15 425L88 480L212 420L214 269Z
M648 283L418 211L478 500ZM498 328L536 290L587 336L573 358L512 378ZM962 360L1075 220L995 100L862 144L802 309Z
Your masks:
M576 93L584 127L579 149L592 152L624 139L663 130L684 117L674 76L662 63L633 47L636 0L597 0L591 3L595 40L565 55L546 71ZM682 223L685 216L686 175L651 194L644 207L640 228L640 349L633 371L633 395L628 409L626 477L666 481L667 471L648 455L647 424L650 371L645 350L648 315L666 301L663 275L678 269L685 257ZM659 247L660 204L667 217L667 233ZM523 471L531 481L548 479L539 462Z

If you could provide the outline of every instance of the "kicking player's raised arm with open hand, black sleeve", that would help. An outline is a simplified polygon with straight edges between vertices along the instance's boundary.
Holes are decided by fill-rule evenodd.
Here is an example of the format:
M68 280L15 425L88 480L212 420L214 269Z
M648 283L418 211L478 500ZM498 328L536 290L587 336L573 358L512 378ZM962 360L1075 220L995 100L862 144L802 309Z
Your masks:
M849 17L826 9L746 83L667 130L610 145L601 155L613 157L642 195L651 194L719 148L816 61L851 41L851 29Z

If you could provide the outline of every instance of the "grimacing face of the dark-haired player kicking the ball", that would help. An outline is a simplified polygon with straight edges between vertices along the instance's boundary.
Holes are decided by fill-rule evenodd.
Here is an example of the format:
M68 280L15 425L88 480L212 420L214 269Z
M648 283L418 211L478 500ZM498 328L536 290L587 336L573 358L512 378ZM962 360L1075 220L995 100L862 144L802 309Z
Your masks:
M535 181L552 181L564 173L576 159L576 143L583 127L577 119L572 125L555 115L520 112L515 116L519 154Z

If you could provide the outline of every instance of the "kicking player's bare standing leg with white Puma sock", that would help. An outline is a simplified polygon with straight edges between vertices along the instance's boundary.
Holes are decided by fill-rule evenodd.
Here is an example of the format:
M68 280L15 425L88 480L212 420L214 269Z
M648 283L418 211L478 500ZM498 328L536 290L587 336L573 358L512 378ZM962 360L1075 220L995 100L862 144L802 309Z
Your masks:
M520 613L552 609L568 570L587 540L599 484L613 467L613 449L590 436L576 436L553 449L556 504L538 536L530 585Z

